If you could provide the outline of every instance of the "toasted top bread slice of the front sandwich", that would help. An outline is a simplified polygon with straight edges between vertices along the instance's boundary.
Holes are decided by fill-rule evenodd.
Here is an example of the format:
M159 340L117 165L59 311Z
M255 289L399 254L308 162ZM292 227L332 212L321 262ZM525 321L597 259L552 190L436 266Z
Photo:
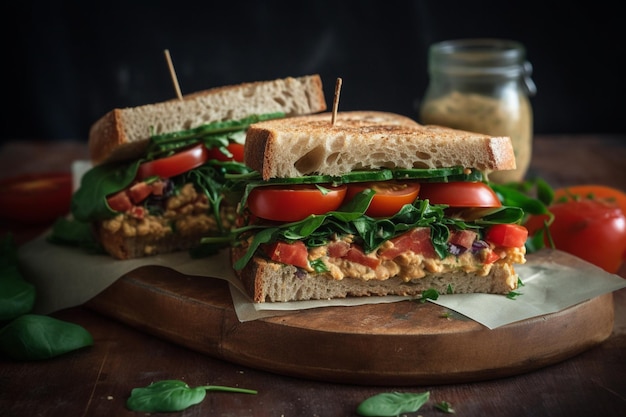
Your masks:
M253 124L244 161L266 180L379 168L515 168L508 137L423 126L380 112L339 112L334 125L330 113Z

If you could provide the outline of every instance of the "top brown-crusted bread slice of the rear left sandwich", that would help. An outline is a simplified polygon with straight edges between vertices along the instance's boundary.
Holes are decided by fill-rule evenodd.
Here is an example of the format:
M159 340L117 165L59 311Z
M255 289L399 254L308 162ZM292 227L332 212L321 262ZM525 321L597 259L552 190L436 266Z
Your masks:
M142 154L153 134L255 114L294 116L324 110L319 75L217 87L185 95L182 100L111 110L90 128L89 150L95 164L131 159Z

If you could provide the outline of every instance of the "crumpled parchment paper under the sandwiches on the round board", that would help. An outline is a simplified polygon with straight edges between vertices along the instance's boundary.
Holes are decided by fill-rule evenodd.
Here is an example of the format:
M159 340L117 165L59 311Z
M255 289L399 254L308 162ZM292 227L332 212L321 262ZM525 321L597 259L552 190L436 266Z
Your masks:
M289 303L252 303L231 268L227 252L192 259L187 252L133 260L117 260L79 249L48 243L46 234L20 247L25 279L37 288L35 311L39 314L81 305L126 273L144 265L159 265L186 275L214 277L230 283L240 321L256 320L309 308L390 303L409 297L354 297L341 300ZM598 295L626 287L626 279L609 274L564 252L543 250L527 256L516 272L524 283L513 299L494 294L440 295L429 300L488 328L496 328L563 310Z

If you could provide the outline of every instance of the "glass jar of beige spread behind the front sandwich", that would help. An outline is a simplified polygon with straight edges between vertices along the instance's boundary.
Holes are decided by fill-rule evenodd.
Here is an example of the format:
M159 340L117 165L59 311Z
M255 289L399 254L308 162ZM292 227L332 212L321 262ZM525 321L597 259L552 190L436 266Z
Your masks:
M517 169L488 174L490 181L524 179L532 154L536 92L532 65L516 41L461 39L431 45L430 81L419 109L422 124L509 136Z

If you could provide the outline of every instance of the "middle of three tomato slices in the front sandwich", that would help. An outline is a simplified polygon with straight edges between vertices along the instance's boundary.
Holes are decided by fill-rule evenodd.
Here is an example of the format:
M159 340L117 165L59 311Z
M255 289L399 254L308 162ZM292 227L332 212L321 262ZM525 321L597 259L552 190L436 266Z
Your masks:
M401 183L396 181L357 182L348 184L347 199L352 199L361 191L371 188L376 192L365 214L372 217L390 217L405 204L411 204L417 198L420 184L417 182Z

